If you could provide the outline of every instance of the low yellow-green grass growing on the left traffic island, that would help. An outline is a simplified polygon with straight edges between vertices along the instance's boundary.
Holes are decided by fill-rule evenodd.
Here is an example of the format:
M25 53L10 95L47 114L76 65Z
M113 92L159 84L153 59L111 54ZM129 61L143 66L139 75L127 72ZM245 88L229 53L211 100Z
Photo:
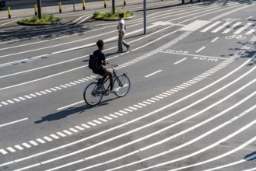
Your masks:
M33 16L31 18L21 19L20 23L25 24L49 24L49 23L56 23L61 21L60 18L54 17L52 14L50 16L42 16L41 19L38 19L37 16Z

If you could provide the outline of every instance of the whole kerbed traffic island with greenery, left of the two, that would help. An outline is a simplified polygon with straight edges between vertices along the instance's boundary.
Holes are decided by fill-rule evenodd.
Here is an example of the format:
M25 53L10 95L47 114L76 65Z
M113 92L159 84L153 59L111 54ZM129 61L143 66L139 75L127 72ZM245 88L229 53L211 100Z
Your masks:
M61 23L61 18L54 17L53 15L42 16L41 19L38 19L37 16L33 16L26 19L21 19L18 21L19 25L25 26L43 26L43 25L53 25Z

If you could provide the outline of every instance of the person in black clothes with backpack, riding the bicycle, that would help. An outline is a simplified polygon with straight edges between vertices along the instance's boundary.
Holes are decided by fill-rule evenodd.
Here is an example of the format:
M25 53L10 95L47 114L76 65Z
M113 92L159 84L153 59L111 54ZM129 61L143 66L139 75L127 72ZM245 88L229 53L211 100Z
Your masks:
M89 63L93 63L93 66L91 67L93 70L93 73L98 74L102 76L103 78L101 79L101 82L103 83L104 80L107 78L107 76L110 77L110 92L117 92L117 89L113 88L113 74L107 68L104 68L103 66L107 65L106 57L105 54L102 52L103 51L103 40L98 40L96 42L96 45L98 46L98 50L93 52L92 57L90 57ZM93 58L93 59L91 59ZM91 61L96 61L96 62L91 62Z

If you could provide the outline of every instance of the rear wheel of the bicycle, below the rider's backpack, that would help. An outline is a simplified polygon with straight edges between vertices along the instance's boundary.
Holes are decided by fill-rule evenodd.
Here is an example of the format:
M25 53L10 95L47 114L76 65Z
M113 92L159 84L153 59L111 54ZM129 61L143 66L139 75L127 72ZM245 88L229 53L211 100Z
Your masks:
M83 99L89 106L94 106L100 103L103 97L103 88L97 82L91 82L86 86L83 92Z

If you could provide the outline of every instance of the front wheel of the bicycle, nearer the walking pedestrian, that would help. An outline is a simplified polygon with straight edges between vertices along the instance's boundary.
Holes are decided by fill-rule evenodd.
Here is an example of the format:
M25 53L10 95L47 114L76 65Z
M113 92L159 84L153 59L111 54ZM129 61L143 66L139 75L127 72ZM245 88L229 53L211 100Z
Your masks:
M127 95L130 87L131 82L127 75L118 75L117 79L114 80L114 89L117 89L114 94L119 97Z

